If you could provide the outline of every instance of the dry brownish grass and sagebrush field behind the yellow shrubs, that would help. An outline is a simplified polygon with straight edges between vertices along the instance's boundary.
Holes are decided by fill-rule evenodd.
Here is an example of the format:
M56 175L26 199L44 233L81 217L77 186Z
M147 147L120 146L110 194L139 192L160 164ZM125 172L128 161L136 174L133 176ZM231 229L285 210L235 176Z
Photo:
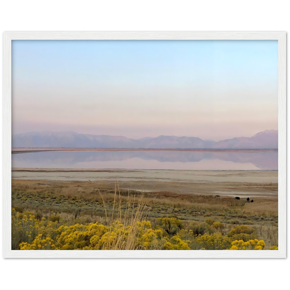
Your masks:
M108 182L12 180L12 208L19 213L29 211L38 220L56 219L59 225L68 226L96 222L108 226L115 220L128 223L129 209L132 217L137 215L153 227L158 219L180 220L182 231L220 223L222 234L226 235L235 227L246 225L255 229L258 240L264 240L265 249L278 245L276 197L256 197L254 202L247 202L246 197L236 200L231 196L156 192L148 188L119 190L118 184ZM192 249L197 247L195 244Z

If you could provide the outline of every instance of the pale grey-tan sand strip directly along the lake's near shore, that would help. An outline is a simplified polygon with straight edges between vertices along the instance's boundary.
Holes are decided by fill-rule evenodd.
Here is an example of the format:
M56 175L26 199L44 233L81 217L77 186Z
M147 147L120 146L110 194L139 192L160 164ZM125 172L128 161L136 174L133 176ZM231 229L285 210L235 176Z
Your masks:
M12 168L13 178L278 183L278 171Z

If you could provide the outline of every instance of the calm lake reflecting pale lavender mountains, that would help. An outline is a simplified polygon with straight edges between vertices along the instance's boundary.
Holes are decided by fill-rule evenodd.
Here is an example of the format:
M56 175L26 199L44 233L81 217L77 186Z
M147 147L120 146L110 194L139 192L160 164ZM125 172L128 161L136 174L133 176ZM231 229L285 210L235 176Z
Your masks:
M12 154L12 168L278 170L278 152L126 150Z

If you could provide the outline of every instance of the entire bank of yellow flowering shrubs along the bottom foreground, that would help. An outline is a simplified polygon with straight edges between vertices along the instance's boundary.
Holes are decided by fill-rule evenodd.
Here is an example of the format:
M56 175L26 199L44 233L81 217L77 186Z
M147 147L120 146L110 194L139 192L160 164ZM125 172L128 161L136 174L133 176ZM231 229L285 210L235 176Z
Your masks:
M55 215L38 219L31 212L11 212L13 250L263 250L263 240L253 238L255 230L236 226L226 235L225 226L207 219L184 229L177 218L157 218L124 224L77 223ZM127 221L128 222L128 221ZM216 231L216 233L214 233ZM238 238L237 238L238 237ZM273 246L269 250L278 250Z

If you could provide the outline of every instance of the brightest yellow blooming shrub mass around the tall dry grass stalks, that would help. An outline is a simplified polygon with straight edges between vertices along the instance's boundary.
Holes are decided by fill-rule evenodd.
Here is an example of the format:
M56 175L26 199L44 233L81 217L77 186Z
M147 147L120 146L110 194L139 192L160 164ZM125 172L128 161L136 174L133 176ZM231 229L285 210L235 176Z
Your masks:
M50 222L52 223L52 222ZM48 228L51 224L48 223ZM54 224L54 223L53 223ZM43 229L40 227L40 229ZM144 250L190 250L188 244L179 237L164 237L164 230L152 229L149 221L136 222L134 226L124 226L119 221L111 227L102 224L75 224L60 226L58 229L46 230L30 243L20 243L21 250L110 250L130 249ZM53 240L50 236L57 235ZM131 240L130 240L131 239Z

